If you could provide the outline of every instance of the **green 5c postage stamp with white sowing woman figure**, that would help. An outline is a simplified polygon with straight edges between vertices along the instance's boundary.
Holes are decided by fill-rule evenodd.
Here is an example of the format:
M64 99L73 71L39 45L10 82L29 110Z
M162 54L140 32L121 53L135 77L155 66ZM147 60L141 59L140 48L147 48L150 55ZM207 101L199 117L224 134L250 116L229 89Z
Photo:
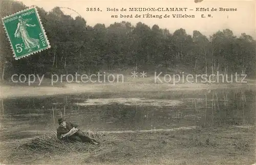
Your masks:
M51 48L35 7L2 18L15 59Z

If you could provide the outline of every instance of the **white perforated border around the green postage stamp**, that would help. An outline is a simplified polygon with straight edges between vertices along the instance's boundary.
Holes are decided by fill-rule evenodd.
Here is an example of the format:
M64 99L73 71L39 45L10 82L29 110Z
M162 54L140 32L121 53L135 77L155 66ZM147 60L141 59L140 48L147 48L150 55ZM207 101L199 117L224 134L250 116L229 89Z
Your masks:
M11 43L11 38L10 38L9 34L7 33L7 29L6 29L6 26L5 26L5 23L4 23L4 19L7 18L7 17L10 17L10 16L12 16L12 15L15 15L15 14L17 14L17 13L20 13L20 12L23 12L23 11L26 11L26 10L29 10L29 9L35 9L36 16L38 17L38 21L39 21L40 28L41 28L41 30L42 30L42 33L44 33L45 40L46 40L48 46L47 46L47 48L45 48L45 49L41 49L41 50L39 50L39 51L32 52L32 53L30 53L30 54L28 54L28 55L25 55L25 56L16 58L16 54L15 54L13 45L12 45L12 43ZM30 55L36 54L36 53L38 53L38 52L41 52L41 51L43 51L43 50L47 50L47 49L50 49L50 48L51 48L50 42L49 42L48 37L47 37L47 35L46 35L45 28L44 28L44 26L42 26L42 22L41 22L40 15L39 15L38 10L37 10L37 8L36 8L35 6L33 6L33 7L28 7L27 9L20 10L20 11L14 13L14 14L10 14L10 15L7 15L7 16L5 16L5 17L2 17L2 22L3 22L3 26L4 26L5 33L6 33L7 37L8 37L9 43L10 43L10 45L11 45L13 57L15 58L15 60L22 59L22 58L28 57L28 56L30 56Z

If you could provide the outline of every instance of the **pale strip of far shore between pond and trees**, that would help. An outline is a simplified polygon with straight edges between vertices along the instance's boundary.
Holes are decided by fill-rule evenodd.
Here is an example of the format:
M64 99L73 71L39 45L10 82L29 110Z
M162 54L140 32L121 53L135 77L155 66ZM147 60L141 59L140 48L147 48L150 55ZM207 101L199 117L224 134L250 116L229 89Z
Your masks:
M141 79L145 80L145 79ZM196 91L196 90L214 90L220 88L250 88L254 90L256 85L254 80L248 80L247 84L203 84L203 83L184 83L184 84L155 84L151 79L147 81L125 82L125 83L63 83L60 86L13 86L1 85L0 99L11 99L19 97L45 97L54 95L75 95L79 93L93 92L129 92L129 91Z

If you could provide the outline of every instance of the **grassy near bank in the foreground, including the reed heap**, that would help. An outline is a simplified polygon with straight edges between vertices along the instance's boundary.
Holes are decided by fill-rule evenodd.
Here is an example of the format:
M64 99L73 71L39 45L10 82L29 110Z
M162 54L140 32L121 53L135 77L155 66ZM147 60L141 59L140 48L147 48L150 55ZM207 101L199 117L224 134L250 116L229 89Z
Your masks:
M2 150L2 163L20 164L252 164L255 127L91 133L101 143L65 144L50 133ZM2 144L4 145L4 144ZM3 149L3 148L2 148Z

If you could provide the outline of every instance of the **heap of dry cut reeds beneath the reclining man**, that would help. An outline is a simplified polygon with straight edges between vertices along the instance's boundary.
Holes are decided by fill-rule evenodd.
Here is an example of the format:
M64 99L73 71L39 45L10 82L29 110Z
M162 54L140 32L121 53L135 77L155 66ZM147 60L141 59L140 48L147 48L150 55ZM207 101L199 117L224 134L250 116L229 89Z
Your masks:
M31 158L32 162L38 161L38 159L45 160L47 157L51 158L51 161L48 159L51 163L82 163L89 157L111 153L115 150L115 147L111 144L118 141L118 139L114 136L105 136L103 133L92 132L90 130L84 133L97 140L100 144L93 145L90 143L65 142L57 138L56 132L51 131L48 134L19 142L19 144L16 144L12 149L8 159L12 159L13 161L19 159L20 162L23 157L26 157L25 155L29 155L27 158ZM27 161L24 161L24 163L27 163Z

